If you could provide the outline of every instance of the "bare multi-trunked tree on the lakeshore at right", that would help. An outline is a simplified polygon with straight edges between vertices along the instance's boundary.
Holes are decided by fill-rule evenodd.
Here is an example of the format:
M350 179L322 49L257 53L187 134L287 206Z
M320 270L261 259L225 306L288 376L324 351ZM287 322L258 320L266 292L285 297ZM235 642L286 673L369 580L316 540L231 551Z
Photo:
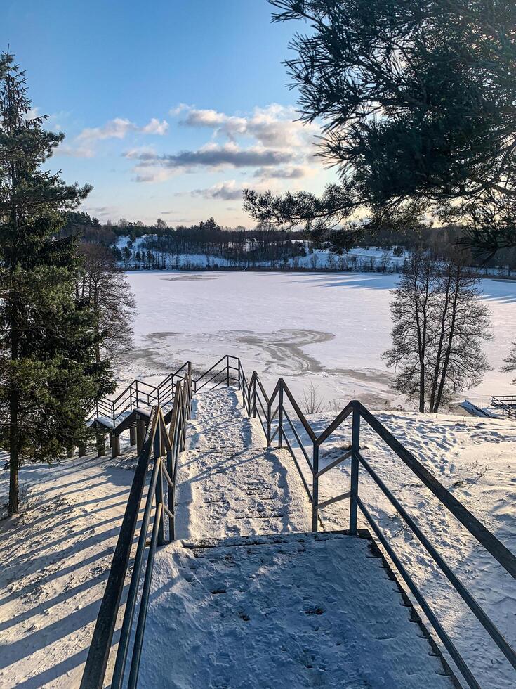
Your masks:
M417 398L419 411L437 412L489 369L489 310L477 283L460 256L435 262L416 252L405 263L391 302L393 346L383 357L396 369L395 389Z

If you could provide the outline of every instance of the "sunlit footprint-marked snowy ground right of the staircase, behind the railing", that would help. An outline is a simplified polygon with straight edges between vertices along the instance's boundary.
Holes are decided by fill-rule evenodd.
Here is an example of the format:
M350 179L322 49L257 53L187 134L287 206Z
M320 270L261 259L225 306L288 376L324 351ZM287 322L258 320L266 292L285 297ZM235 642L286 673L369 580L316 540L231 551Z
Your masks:
M294 418L293 413L290 416ZM516 553L515 422L452 415L436 419L411 412L380 413L378 418L461 503ZM333 418L314 415L309 420L319 434ZM305 442L305 432L300 425L297 427ZM292 435L290 437L295 444ZM322 445L321 466L342 455L350 447L350 439L350 423L346 421ZM516 581L444 510L437 498L364 421L360 445L372 468L515 648ZM309 446L307 441L306 446ZM300 464L306 466L300 451L297 453ZM308 474L306 477L310 482ZM347 461L323 475L319 498L324 501L341 494L349 490L349 485L350 462ZM514 687L514 669L364 470L360 474L359 493L425 597L446 623L446 629L474 669L482 687ZM324 528L343 528L348 523L348 510L347 501L321 510L319 515ZM367 526L365 521L362 526ZM491 659L487 667L486 657Z

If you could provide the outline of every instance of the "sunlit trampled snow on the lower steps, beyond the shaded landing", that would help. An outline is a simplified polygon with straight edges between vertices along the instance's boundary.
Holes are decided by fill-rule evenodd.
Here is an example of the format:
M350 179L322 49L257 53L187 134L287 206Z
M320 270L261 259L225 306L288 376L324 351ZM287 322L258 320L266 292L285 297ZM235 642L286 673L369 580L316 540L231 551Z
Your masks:
M266 449L258 423L232 389L194 399L190 449L178 468L178 538L310 531L310 503L292 460Z

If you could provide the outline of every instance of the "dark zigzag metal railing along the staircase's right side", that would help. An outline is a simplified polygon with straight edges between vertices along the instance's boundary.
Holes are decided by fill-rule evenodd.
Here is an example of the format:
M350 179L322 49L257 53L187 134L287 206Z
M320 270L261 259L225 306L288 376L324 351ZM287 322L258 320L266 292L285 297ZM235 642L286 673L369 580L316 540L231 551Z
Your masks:
M468 664L463 659L456 645L451 640L449 634L442 626L437 618L437 615L432 610L432 607L425 599L420 589L418 588L414 578L409 573L409 570L399 559L395 553L394 548L388 541L388 536L384 534L378 523L374 519L369 508L367 508L364 499L359 495L359 475L360 468L365 470L366 474L373 479L373 482L382 491L391 505L395 508L399 516L405 524L411 529L411 532L416 536L418 541L444 577L449 581L451 586L460 595L464 603L468 606L471 612L475 615L477 620L482 624L494 643L501 650L505 658L508 659L513 668L516 669L516 652L509 645L508 641L503 637L503 634L496 628L494 622L489 618L486 612L480 607L475 598L472 596L468 588L458 579L456 574L451 570L451 567L446 563L445 559L440 555L436 548L432 546L429 539L422 532L416 521L409 515L407 510L402 506L399 499L387 487L383 479L378 475L373 468L373 463L364 458L360 451L360 427L364 422L375 432L383 442L392 450L416 475L416 477L428 488L432 494L439 500L443 508L449 511L454 517L463 524L465 529L476 539L476 541L489 552L492 557L510 574L513 579L516 579L516 557L508 548L506 548L501 541L499 541L494 534L484 527L484 524L479 522L477 517L472 515L470 511L463 506L436 478L428 469L419 462L416 457L409 452L397 439L385 428L385 426L373 416L359 401L352 400L343 408L338 416L326 427L325 430L316 434L308 423L305 415L301 411L296 399L293 397L289 387L284 380L280 378L277 382L274 391L267 396L260 378L256 371L253 371L249 381L246 378L242 364L239 361L239 389L242 392L242 406L249 416L258 418L260 425L263 428L265 438L267 439L267 446L270 446L277 437L278 447L286 445L293 461L298 469L303 485L307 492L307 496L312 506L312 530L317 532L319 510L325 507L349 499L349 533L352 536L357 535L357 515L358 510L364 515L364 519L373 530L376 539L381 543L385 552L388 554L390 560L394 563L399 574L402 576L406 586L411 591L412 595L423 610L428 622L434 629L435 633L442 641L444 648L449 652L450 657L454 660L459 671L463 675L466 683L472 688L479 688L479 683L475 679L468 667ZM516 401L516 398L515 398ZM286 408L286 405L290 407ZM292 418L291 418L292 415ZM338 458L330 463L320 466L319 456L321 447L331 435L343 424L343 422L351 417L351 443L350 448L344 451ZM296 423L297 420L297 423ZM303 442L301 435L307 438L307 442ZM307 445L307 446L306 446ZM296 454L296 449L301 456ZM300 461L305 461L308 467L309 480L305 477L305 472L301 468ZM319 479L326 472L342 464L345 461L350 461L350 489L345 493L329 498L325 501L319 501ZM311 479L311 480L310 480ZM311 486L310 486L311 483Z

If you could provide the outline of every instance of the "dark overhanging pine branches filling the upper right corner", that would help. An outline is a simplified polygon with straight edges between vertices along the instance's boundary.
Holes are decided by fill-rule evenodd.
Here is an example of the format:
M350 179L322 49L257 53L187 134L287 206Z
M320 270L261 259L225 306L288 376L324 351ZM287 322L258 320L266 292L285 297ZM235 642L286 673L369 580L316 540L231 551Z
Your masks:
M516 245L516 5L487 0L270 0L291 44L300 119L340 183L256 193L260 220L344 249L362 229L460 222L489 253ZM348 233L337 231L343 227Z

